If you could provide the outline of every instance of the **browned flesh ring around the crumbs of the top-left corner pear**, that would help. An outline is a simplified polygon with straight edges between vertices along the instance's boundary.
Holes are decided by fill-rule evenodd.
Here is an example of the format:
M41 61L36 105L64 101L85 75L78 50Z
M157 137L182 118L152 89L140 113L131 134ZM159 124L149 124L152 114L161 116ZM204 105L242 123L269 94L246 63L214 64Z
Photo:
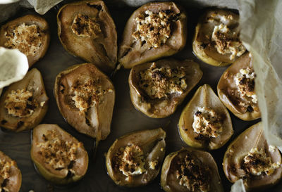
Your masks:
M50 34L49 34L49 25L44 18L41 18L37 15L25 15L20 18L16 18L15 20L11 20L10 22L2 25L0 30L0 46L4 46L6 41L8 40L5 37L5 32L12 32L15 27L25 23L26 25L37 25L39 27L39 34L43 39L42 46L37 49L35 56L27 56L28 65L31 67L35 64L39 59L43 58L47 49L49 47L50 42Z

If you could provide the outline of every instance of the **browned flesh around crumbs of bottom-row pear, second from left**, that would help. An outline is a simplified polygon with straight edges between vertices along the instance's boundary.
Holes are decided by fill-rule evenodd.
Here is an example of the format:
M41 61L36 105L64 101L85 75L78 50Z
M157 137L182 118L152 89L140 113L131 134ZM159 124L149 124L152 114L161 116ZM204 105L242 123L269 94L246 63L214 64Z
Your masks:
M32 132L32 144L30 149L32 161L35 163L39 173L54 184L66 185L82 179L87 172L88 167L88 154L83 146L78 148L76 154L77 159L71 168L73 170L73 175L71 177L68 177L68 169L54 169L50 164L45 163L44 157L39 154L39 146L37 146L37 143L42 143L43 134L47 135L47 132L53 129L61 134L63 141L78 143L78 140L75 139L75 137L61 129L57 124L39 124Z

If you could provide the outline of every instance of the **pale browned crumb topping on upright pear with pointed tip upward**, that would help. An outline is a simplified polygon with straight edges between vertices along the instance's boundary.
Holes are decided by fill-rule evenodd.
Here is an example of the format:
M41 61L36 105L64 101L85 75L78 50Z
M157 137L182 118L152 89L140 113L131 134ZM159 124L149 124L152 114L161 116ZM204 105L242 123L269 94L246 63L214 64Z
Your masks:
M211 108L198 108L192 124L194 132L206 137L218 137L222 132L221 117Z

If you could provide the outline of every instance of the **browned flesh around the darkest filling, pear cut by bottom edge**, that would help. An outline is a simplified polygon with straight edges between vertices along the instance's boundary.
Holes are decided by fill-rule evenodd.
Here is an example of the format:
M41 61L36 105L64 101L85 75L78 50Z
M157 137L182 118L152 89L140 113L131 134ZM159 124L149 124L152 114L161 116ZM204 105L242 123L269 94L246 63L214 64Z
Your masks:
M212 180L210 182L209 191L223 192L219 170L212 155L206 151L200 151L193 148L182 148L180 151L173 152L164 159L163 167L161 168L161 187L166 192L185 192L188 188L179 184L179 179L176 178L177 162L181 158L185 158L186 154L197 157L203 165L209 167ZM192 192L192 191L191 191Z

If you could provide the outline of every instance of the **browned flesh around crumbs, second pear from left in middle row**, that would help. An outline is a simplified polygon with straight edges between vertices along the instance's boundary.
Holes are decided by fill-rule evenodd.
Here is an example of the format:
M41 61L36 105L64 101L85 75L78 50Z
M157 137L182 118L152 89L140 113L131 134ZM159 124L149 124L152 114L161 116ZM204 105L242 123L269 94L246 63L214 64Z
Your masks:
M69 98L72 85L83 79L99 79L99 85L102 86L102 89L111 89L111 92L103 95L103 101L96 105L97 108L92 107L87 110L87 115L90 115L89 119L92 124L87 123L86 116L80 114L80 110L71 104L71 98ZM71 124L78 132L96 138L98 141L106 139L106 136L111 132L115 91L111 79L95 65L82 63L60 72L56 77L54 95L61 115L68 124Z

